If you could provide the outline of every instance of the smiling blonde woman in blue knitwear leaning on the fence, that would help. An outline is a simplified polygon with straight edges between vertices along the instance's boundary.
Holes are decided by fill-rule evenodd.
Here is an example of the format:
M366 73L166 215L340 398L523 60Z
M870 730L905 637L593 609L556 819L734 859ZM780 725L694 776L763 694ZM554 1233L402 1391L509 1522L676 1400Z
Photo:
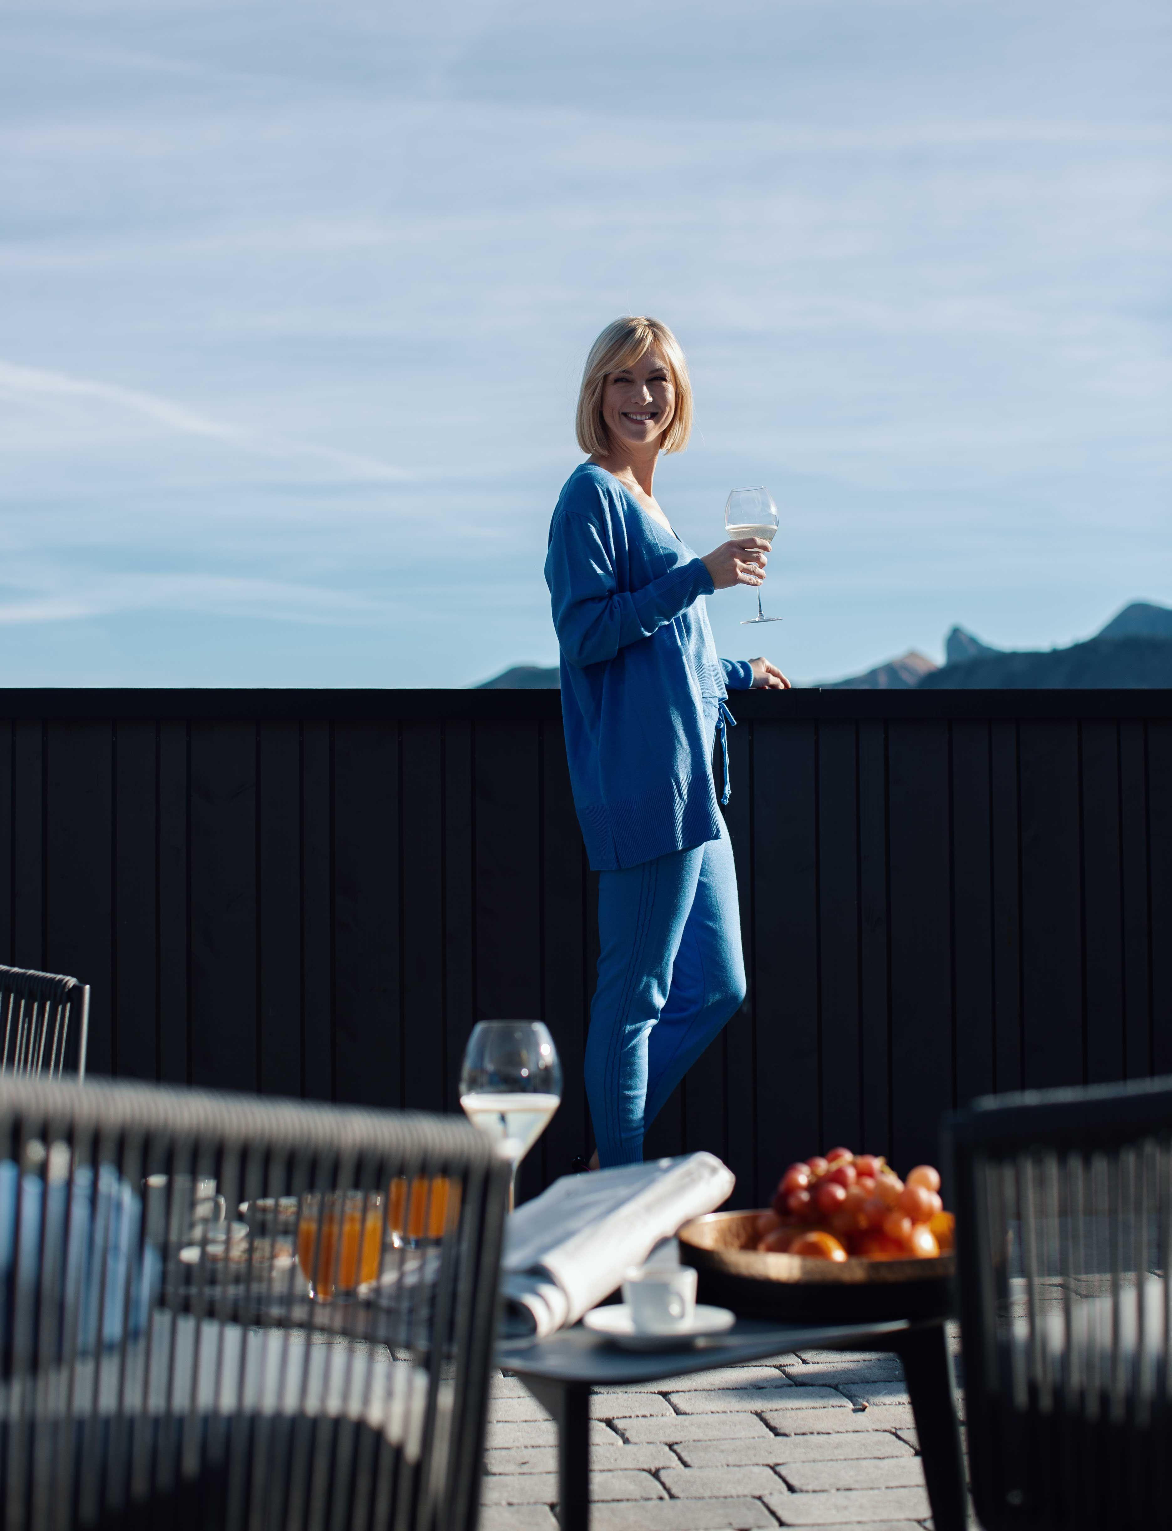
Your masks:
M705 597L764 580L768 544L697 557L656 501L660 452L692 421L666 325L617 318L578 400L588 453L550 525L545 582L561 645L575 807L599 877L601 954L585 1079L597 1162L633 1164L643 1131L745 998L737 879L712 788L726 687L787 687L768 660L717 658Z

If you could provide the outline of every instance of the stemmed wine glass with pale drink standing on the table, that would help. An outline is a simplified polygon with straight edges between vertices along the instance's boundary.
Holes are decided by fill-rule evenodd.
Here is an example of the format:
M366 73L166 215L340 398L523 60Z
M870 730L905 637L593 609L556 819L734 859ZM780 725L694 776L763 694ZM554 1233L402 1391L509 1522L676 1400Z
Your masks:
M562 1066L542 1021L478 1021L464 1049L460 1104L483 1133L501 1144L516 1167L541 1138L562 1099Z

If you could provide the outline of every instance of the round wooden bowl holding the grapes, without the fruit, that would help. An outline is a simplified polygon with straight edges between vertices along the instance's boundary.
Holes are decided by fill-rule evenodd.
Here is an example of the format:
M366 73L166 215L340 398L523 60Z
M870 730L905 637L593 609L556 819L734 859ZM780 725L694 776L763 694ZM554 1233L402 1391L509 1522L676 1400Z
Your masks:
M680 1260L699 1272L702 1303L746 1318L939 1318L953 1309L956 1257L810 1260L758 1252L758 1213L709 1213L680 1228Z

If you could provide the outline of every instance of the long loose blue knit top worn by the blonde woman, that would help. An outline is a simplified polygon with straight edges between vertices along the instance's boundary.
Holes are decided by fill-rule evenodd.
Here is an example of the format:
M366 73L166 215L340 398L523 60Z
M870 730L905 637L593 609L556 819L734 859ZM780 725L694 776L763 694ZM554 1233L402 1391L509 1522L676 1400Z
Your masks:
M717 839L705 698L726 697L726 684L748 690L752 666L717 658L705 563L613 475L584 462L553 511L545 583L570 781L593 870Z

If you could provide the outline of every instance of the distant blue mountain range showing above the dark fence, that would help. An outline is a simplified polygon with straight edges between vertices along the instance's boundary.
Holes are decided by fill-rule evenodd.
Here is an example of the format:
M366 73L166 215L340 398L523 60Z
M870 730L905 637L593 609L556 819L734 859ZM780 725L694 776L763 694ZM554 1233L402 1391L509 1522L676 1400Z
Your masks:
M480 689L529 690L556 684L556 666L513 664L481 681ZM964 628L953 628L944 640L944 664L908 649L861 675L812 684L824 690L1172 687L1172 608L1135 600L1092 638L1065 649L996 649Z

